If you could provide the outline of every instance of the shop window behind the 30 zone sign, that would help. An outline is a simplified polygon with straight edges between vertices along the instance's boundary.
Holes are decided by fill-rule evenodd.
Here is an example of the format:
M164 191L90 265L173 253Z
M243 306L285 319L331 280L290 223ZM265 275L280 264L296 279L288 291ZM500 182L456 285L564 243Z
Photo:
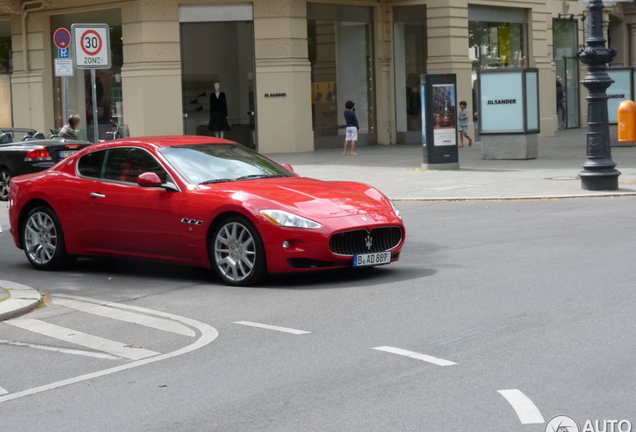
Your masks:
M111 120L119 125L125 123L123 111L123 93L121 83L121 68L124 63L123 38L120 9L82 12L51 17L51 38L53 32L60 27L71 30L74 23L105 23L110 26L110 69L97 69L97 127L100 140L109 139L107 132L113 130ZM51 42L53 57L57 57L57 48ZM53 67L53 66L52 66ZM63 107L62 78L54 77L54 110L55 128L59 129L66 123ZM89 69L75 69L74 75L68 77L68 107L69 114L80 116L79 137L93 139L93 105L91 89L91 71Z

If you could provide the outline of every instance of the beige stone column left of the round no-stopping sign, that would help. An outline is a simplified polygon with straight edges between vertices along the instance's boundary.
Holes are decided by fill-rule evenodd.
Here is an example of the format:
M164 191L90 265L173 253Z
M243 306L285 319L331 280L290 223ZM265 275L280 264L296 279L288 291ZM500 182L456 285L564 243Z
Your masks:
M24 41L19 16L11 19L13 74L11 99L13 125L44 132L53 127L53 70L50 66L51 29L48 15L33 12L27 17L28 63L24 67Z

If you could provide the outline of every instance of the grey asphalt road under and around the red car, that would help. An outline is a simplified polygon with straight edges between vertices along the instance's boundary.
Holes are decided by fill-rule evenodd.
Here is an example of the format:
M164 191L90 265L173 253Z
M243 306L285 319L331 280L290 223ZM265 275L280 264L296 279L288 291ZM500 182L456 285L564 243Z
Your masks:
M128 367L139 360L34 348L97 352L0 323L0 340L32 345L0 343L0 430L538 432L558 414L581 427L636 423L635 202L399 203L400 262L259 288L116 260L38 272L0 213L0 279L52 299L25 318L165 357ZM127 310L194 335L72 309L68 296L143 308Z

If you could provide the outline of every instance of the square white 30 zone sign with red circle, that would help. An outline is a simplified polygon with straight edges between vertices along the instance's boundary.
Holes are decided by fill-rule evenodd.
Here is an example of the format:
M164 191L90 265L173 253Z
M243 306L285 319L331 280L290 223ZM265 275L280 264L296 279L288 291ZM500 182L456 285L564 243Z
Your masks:
M73 24L73 59L77 69L110 68L108 24Z

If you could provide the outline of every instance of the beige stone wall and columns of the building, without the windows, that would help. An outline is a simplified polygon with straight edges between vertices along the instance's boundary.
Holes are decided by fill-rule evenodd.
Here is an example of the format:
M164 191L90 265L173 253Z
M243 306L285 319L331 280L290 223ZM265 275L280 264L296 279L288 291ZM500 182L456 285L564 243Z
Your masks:
M464 0L315 0L375 8L375 91L377 138L396 143L392 7L427 7L428 73L457 74L458 95L469 101L471 62L468 58L468 7ZM28 56L20 15L0 9L11 22L14 72L11 77L13 123L39 130L53 127L53 71L50 16L83 10L121 8L124 40L122 83L124 112L135 135L183 133L179 5L181 0L56 0L26 18ZM190 0L187 4L245 3L239 0ZM258 142L264 152L312 151L311 70L307 52L306 0L253 0ZM552 19L558 14L580 19L586 5L569 0L472 0L471 4L524 9L528 25L529 67L539 69L540 126L553 135L556 126L555 65L552 61ZM15 12L15 11L14 11ZM636 60L636 9L617 3L606 8L616 62ZM579 26L584 43L584 26ZM26 61L25 61L26 60ZM583 78L585 71L581 70ZM581 124L585 124L586 90L581 90ZM285 97L268 98L269 93Z

